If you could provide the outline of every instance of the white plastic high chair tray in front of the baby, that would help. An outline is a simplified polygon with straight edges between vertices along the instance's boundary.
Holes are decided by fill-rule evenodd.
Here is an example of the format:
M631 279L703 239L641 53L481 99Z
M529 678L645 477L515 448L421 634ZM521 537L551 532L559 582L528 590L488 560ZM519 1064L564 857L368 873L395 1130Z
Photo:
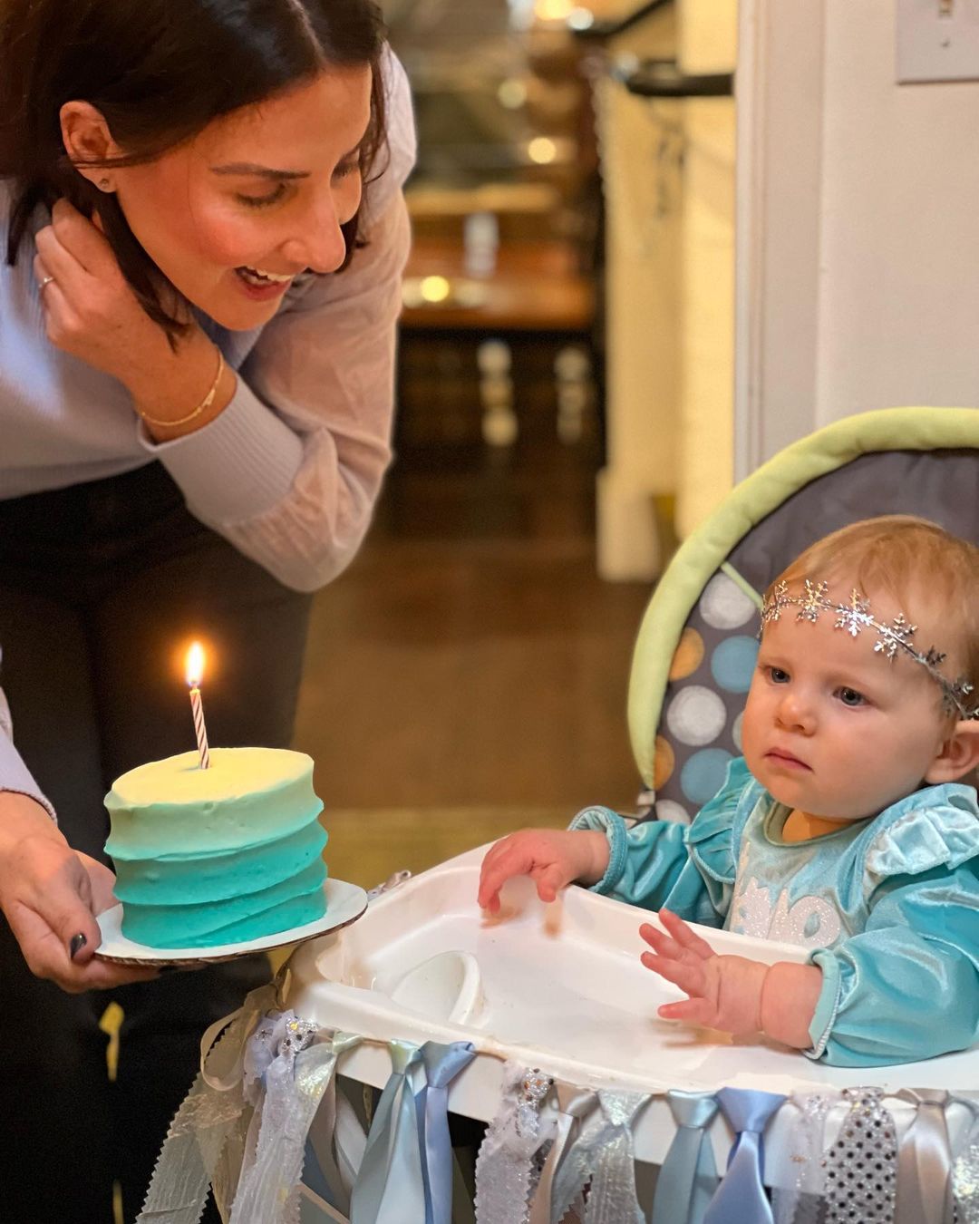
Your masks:
M381 1042L472 1042L480 1056L453 1082L449 1108L485 1121L499 1104L503 1059L583 1087L642 1092L979 1086L979 1047L901 1066L831 1067L784 1047L660 1020L658 1005L683 995L640 963L639 925L655 916L579 887L546 906L521 879L504 886L501 914L491 918L476 903L486 848L382 894L349 929L299 949L288 1005L323 1027ZM696 929L718 952L767 963L806 958L794 945ZM383 1045L363 1044L339 1070L383 1087L390 1060ZM892 1113L901 1127L899 1103ZM907 1106L904 1125L910 1116ZM723 1133L721 1122L726 1157ZM655 1099L636 1126L638 1158L662 1160L672 1135L669 1110Z

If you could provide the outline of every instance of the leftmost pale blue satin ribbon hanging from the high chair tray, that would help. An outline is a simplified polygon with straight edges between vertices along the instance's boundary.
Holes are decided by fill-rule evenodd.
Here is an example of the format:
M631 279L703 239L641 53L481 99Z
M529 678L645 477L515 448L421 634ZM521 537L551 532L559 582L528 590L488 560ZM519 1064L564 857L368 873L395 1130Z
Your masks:
M389 1042L392 1072L377 1104L354 1192L350 1224L425 1219L425 1180L415 1093L425 1065L411 1042Z

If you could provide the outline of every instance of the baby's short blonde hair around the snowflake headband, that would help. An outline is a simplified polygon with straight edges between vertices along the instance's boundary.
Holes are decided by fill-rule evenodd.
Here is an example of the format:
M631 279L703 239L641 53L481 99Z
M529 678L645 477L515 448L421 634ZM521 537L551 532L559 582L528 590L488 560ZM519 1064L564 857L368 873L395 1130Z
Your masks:
M810 545L769 588L803 583L806 578L832 583L846 575L862 594L886 591L914 623L915 596L934 592L942 608L941 640L917 641L918 650L935 645L951 657L942 668L950 679L964 672L979 687L979 548L951 535L937 523L910 514L862 519ZM846 602L849 591L833 592ZM951 667L951 671L950 671Z

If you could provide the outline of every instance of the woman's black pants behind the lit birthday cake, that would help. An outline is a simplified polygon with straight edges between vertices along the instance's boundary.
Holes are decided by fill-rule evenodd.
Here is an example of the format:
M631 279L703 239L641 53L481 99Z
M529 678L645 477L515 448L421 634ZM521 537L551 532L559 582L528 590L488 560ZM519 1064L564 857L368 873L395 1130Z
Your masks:
M106 860L113 780L195 747L192 638L209 646L210 743L288 747L308 608L193 519L157 464L0 502L0 684L69 842ZM117 1179L130 1224L201 1034L268 979L266 958L67 995L31 974L0 917L0 1220L110 1224ZM113 999L110 1083L98 1020Z

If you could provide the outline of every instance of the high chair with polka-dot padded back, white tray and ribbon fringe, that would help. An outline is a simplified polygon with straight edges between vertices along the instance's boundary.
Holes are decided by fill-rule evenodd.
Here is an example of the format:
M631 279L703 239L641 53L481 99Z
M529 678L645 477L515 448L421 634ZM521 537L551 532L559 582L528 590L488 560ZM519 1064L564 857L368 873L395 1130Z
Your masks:
M688 821L738 754L760 592L788 561L846 523L885 513L924 515L979 542L977 490L979 411L913 408L831 425L738 486L683 543L640 628L629 693L633 748L645 785L640 818ZM531 881L521 879L504 886L501 913L487 917L476 906L483 851L395 881L354 925L299 947L275 994L263 1000L263 1006L274 1001L264 1028L256 1007L225 1038L226 1062L229 1050L244 1050L262 1032L269 1039L268 1017L278 1010L318 1027L319 1042L333 1050L310 1047L321 1048L321 1062L334 1058L344 1091L321 1084L303 1186L279 1187L281 1203L299 1211L303 1224L474 1219L458 1168L454 1207L448 1206L453 1175L448 1166L432 1171L434 1138L420 1121L431 1108L423 1093L433 1051L441 1056L447 1047L459 1065L441 1098L443 1120L448 1106L454 1115L491 1124L476 1164L478 1224L645 1220L655 1166L664 1159L672 1162L664 1175L673 1179L668 1193L679 1198L671 1207L657 1198L652 1219L685 1224L683 1212L696 1211L689 1218L701 1219L706 1198L721 1193L711 1189L711 1166L723 1170L731 1159L728 1189L734 1191L743 1165L762 1147L758 1173L775 1187L767 1209L776 1212L776 1224L815 1219L797 1212L811 1212L819 1196L830 1193L833 1144L864 1124L875 1136L873 1144L868 1138L868 1151L876 1144L873 1159L860 1173L847 1165L846 1176L853 1201L864 1195L871 1206L852 1218L892 1219L896 1184L902 1224L946 1220L939 1198L953 1185L968 1185L964 1164L956 1182L955 1162L979 1154L979 1129L973 1129L979 1092L969 1091L979 1089L979 1048L851 1070L765 1040L737 1043L660 1021L657 1006L679 993L639 961L638 927L655 916L580 887L543 905ZM806 960L794 945L699 931L718 952L769 963ZM305 1084L303 1092L313 1082L301 1061L307 1054L292 1055L295 1083ZM307 1067L302 1073L301 1066ZM373 1094L370 1137L357 1084L384 1089L379 1100ZM715 1102L723 1108L707 1120L704 1138L683 1140L694 1147L680 1153L688 1181L677 1190L678 1102L684 1093L709 1100L721 1089ZM735 1135L728 1113L733 1100L749 1098L764 1100L767 1110L753 1137ZM259 1093L259 1114L269 1109L268 1099ZM443 1164L447 1143L448 1131ZM219 1176L230 1203L242 1160L255 1166L258 1158L248 1155L247 1144L228 1151L239 1153L237 1165L226 1155ZM701 1175L705 1181L696 1180ZM698 1195L700 1207L690 1206ZM756 1203L750 1211L762 1214L753 1215L742 1203L738 1209L746 1214L737 1219L771 1220L764 1208ZM711 1224L735 1219L729 1201L717 1211ZM972 1224L975 1211L975 1200L962 1198L962 1224ZM283 1206L275 1218L295 1215ZM258 1224L245 1211L231 1220Z

